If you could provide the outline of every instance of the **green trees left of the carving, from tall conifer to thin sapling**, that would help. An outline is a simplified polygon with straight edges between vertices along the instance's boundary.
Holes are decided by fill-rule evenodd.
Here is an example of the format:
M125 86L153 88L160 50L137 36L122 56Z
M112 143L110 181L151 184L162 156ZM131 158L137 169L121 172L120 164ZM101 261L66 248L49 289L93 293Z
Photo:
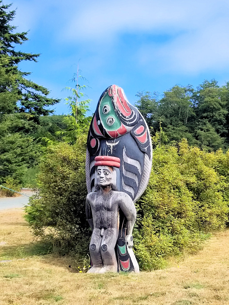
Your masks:
M37 62L40 54L18 50L28 40L27 32L16 32L11 25L16 11L10 6L0 1L0 184L16 190L36 186L35 174L47 145L73 143L91 117L86 117L89 101L78 101L85 85L67 88L68 116L53 115L52 106L60 99L50 98L47 88L30 80L30 72L20 70L20 62ZM78 71L73 82L75 77Z

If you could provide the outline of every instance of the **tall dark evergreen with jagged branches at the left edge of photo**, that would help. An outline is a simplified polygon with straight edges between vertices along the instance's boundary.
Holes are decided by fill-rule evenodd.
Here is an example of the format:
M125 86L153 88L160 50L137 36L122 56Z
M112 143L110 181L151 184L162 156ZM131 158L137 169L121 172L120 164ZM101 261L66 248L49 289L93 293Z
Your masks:
M41 153L33 135L40 116L60 100L49 98L49 90L28 79L18 64L35 61L39 54L18 51L18 45L28 40L27 32L18 33L11 25L15 10L0 0L0 181L10 175L20 180L28 167L36 163Z

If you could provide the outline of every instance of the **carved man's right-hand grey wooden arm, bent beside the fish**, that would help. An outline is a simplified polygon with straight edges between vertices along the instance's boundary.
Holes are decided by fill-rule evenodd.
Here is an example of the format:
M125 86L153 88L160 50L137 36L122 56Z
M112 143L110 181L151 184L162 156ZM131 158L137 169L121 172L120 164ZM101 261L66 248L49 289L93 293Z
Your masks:
M123 193L123 196L119 202L119 207L124 213L127 219L127 231L126 231L126 243L129 247L133 246L133 227L136 221L136 208L133 203L133 200L130 198L129 195Z

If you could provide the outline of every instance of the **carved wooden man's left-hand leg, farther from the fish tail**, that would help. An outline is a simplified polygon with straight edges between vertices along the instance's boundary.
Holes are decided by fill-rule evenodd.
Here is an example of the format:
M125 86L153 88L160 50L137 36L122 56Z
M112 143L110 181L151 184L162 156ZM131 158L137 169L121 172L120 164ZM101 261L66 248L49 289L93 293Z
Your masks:
M89 269L88 273L98 273L103 267L103 260L100 253L100 246L102 237L100 236L100 229L94 229L91 236L89 252L93 266Z

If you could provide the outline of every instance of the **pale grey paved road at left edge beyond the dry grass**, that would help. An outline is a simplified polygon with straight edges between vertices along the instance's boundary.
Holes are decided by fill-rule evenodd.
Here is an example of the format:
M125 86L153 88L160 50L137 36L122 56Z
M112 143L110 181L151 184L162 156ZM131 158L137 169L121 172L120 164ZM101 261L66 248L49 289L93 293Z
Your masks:
M26 194L27 196L32 196L34 194L28 190L23 190L22 193ZM29 197L26 196L0 198L0 210L21 208L24 207L28 202Z

